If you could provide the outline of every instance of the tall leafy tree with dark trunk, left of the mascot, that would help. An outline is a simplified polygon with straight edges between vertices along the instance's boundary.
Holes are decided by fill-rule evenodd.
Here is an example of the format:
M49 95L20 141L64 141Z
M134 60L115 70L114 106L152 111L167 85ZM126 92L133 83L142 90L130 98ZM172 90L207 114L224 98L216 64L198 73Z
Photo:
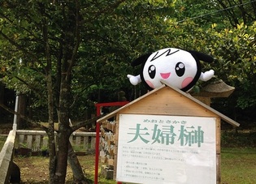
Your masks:
M69 136L83 125L69 126L78 94L110 83L119 89L124 71L132 71L130 60L166 42L164 15L169 5L5 0L1 6L2 81L47 106L50 183L64 183ZM54 122L59 122L58 130Z

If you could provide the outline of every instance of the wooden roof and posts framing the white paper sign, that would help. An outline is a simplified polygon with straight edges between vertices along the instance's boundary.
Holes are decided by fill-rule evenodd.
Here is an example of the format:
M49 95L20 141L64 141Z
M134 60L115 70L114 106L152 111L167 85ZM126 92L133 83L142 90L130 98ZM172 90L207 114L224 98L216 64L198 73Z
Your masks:
M121 114L161 115L179 117L215 118L215 156L216 156L216 183L221 183L220 174L220 122L228 122L232 126L239 126L239 123L231 118L210 108L210 101L207 97L195 97L179 89L163 84L161 88L154 89L137 100L124 105L123 107L98 119L102 123L109 118L115 117L115 158L114 158L114 179L116 178L117 154L119 143L119 117ZM202 103L205 101L206 103ZM208 105L206 105L208 104ZM120 181L125 182L125 181Z

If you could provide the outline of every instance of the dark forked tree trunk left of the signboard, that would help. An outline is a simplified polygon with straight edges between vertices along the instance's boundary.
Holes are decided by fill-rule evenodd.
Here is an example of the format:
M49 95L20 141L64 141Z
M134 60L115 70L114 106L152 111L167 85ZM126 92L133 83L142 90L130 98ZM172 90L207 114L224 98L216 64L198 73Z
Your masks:
M67 151L69 145L69 136L72 133L72 128L69 126L69 115L71 108L71 77L72 77L72 66L76 61L77 50L80 45L80 3L76 2L76 11L70 9L67 6L68 3L62 3L63 22L71 23L69 26L63 27L63 32L61 39L59 41L59 56L57 59L57 76L56 76L56 86L53 86L52 79L47 80L47 90L48 94L48 103L51 103L56 100L58 119L59 119L59 130L56 137L56 155L54 155L54 118L53 118L53 108L54 104L49 104L50 114L52 114L49 120L49 135L50 135L50 183L65 183L66 173L67 173ZM41 4L41 12L45 14L45 6ZM74 16L75 15L75 16ZM50 57L50 44L48 38L48 29L47 25L48 19L43 19L43 36L45 41L46 48L46 59L47 74L50 75L53 67L51 64ZM74 19L75 21L70 21ZM50 83L48 85L48 83ZM51 89L50 89L51 88ZM54 92L53 89L54 88ZM55 98L53 96L55 95ZM80 166L80 165L79 165ZM76 169L79 169L76 165ZM78 177L80 178L80 177Z

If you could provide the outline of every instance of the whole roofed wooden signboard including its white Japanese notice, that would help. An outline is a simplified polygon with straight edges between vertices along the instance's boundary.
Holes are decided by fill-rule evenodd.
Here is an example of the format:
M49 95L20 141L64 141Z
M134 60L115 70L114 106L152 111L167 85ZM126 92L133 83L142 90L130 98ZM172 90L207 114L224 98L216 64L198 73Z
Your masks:
M115 117L114 179L130 183L220 183L220 120L239 126L176 88L141 96Z

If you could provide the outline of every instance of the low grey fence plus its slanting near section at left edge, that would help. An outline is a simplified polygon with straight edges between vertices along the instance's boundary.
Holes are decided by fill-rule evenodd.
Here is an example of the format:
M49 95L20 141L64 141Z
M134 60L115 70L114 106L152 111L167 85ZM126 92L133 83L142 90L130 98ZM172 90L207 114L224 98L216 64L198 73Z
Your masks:
M73 132L70 142L75 152L95 152L95 132ZM15 178L15 163L12 161L15 148L30 148L32 152L42 151L48 148L48 136L45 131L10 131L7 141L0 152L0 183L10 183ZM13 178L12 178L13 177ZM11 179L10 179L11 178Z

